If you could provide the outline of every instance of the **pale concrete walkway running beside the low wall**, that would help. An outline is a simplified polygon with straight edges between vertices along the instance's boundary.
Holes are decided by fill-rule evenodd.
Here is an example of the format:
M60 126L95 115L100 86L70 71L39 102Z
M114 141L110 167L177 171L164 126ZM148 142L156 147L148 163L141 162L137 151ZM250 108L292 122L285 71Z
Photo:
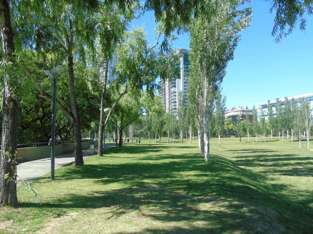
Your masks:
M115 144L106 143L105 149L116 146ZM83 150L83 158L87 158L90 156L90 149ZM96 154L97 151L94 149L93 154ZM57 155L54 158L54 169L58 169L60 167L64 167L66 165L74 163L75 156L74 152ZM39 176L47 174L51 172L51 157L38 159L33 161L28 161L24 163L20 163L17 166L17 174L18 179L22 180L31 180L35 179Z

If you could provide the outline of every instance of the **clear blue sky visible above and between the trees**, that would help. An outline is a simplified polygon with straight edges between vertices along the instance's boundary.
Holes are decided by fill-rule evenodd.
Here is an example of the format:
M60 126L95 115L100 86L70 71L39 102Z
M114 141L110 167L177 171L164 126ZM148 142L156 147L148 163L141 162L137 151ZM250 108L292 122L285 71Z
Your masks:
M228 63L222 82L222 94L227 108L275 101L275 98L313 93L313 16L306 17L305 32L299 28L283 38L279 44L271 35L274 15L270 3L252 0L253 17L250 26L241 33L241 40ZM150 44L153 44L153 13L132 24L145 26ZM173 49L190 49L189 36L179 36Z

